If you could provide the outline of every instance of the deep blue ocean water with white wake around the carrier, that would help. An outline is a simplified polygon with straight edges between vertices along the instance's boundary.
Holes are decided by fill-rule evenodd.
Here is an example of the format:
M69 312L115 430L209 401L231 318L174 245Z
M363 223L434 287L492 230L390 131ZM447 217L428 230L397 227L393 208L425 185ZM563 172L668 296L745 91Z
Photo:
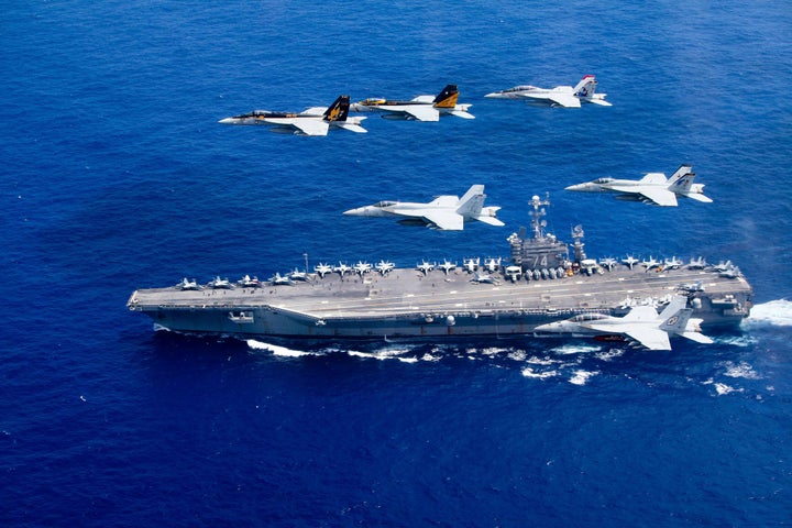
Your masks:
M792 525L787 2L11 1L0 22L0 525ZM595 74L610 108L485 99ZM460 87L474 121L217 124ZM711 205L565 193L691 163ZM503 229L341 211L484 184ZM741 329L587 341L154 332L138 287L507 253L531 195L592 256L730 258Z

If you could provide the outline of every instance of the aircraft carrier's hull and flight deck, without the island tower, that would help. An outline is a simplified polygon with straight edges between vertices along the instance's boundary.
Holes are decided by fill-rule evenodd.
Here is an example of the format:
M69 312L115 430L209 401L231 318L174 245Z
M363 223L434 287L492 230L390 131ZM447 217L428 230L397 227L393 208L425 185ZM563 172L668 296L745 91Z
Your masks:
M623 316L630 305L688 295L705 328L735 324L751 307L750 285L716 271L646 271L618 266L593 276L475 284L472 275L424 275L399 268L386 276L314 277L307 283L206 288L140 289L129 307L174 331L282 338L432 338L532 334L539 324L576 314ZM703 290L683 285L701 283Z

